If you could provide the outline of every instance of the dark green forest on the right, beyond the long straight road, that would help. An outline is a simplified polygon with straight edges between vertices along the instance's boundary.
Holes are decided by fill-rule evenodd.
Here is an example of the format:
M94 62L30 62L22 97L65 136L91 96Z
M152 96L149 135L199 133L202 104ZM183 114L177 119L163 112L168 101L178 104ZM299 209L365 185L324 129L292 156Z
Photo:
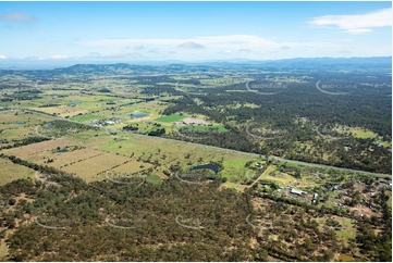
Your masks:
M354 75L352 78L356 82L361 76ZM315 83L304 83L291 84L285 92L274 96L225 91L241 88L242 85L214 88L207 90L207 96L187 95L174 90L173 95L183 95L183 97L173 100L163 114L176 112L202 114L211 121L222 123L230 130L209 133L206 138L198 138L197 142L259 154L269 153L305 162L391 173L392 154L388 148L378 145L376 138L356 138L347 133L346 138L334 140L329 138L329 134L322 137L316 132L320 125L322 127L347 125L371 129L390 141L392 122L389 89L380 88L379 93L369 89L359 89L347 96L329 97L318 91ZM169 88L163 89L165 92L171 92ZM147 93L148 90L146 89ZM196 103L195 98L201 103ZM349 99L352 103L347 103ZM245 105L246 102L258 107L248 108ZM237 103L242 107L235 107ZM300 117L308 121L304 122ZM256 134L256 137L253 137L246 132L249 124L256 127L270 127L280 132L280 136L271 140L258 138L258 136L269 137L263 134ZM176 133L170 136L180 140L192 140Z

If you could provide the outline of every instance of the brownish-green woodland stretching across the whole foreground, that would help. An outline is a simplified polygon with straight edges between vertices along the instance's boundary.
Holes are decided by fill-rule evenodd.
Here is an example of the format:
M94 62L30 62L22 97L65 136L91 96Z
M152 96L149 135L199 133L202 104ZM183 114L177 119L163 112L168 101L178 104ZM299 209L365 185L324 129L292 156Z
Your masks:
M244 193L220 188L220 178L204 186L174 177L159 185L86 184L67 175L50 180L57 185L19 179L0 187L0 224L15 228L7 240L9 260L268 261L270 255L284 261L331 261L334 253L391 260L386 198L381 199L385 203L381 218L359 220L342 208L261 195L256 187ZM33 201L16 201L20 193ZM340 224L332 215L356 221L356 240L342 242L335 233ZM321 216L328 218L328 227L315 220ZM42 227L33 222L35 217L52 218L45 225L64 228ZM381 234L372 230L377 226ZM256 240L253 246L250 240Z

